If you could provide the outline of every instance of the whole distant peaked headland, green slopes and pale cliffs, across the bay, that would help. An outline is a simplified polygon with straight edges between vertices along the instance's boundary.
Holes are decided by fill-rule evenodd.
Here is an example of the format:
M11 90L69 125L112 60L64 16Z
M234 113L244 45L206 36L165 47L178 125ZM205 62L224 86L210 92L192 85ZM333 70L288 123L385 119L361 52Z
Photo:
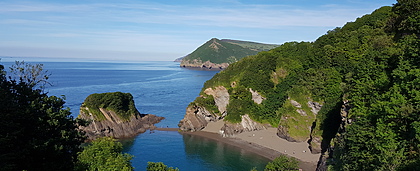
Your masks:
M237 62L246 56L256 55L258 52L277 46L249 41L212 38L184 57L181 61L181 66L193 68L205 66L205 68L210 68L214 65L219 69L224 69L229 64ZM219 66L218 64L225 65Z

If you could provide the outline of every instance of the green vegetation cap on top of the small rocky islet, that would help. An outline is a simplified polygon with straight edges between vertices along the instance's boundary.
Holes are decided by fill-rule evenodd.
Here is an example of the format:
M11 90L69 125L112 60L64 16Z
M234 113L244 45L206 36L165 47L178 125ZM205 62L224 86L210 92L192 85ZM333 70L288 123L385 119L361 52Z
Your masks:
M118 116L124 120L129 120L133 114L138 111L134 105L133 96L130 93L95 93L89 95L84 102L84 106L89 109L89 112L95 115L96 119L105 119L105 116L99 108L114 111Z

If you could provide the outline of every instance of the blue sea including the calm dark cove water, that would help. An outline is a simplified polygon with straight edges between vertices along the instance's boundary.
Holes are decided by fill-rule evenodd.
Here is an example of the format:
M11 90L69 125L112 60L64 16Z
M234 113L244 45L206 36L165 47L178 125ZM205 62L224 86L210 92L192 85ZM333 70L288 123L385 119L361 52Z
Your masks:
M3 59L6 71L14 62ZM189 70L175 62L26 62L43 64L51 74L50 96L65 98L73 117L93 93L131 93L140 113L163 116L157 127L177 128L189 103L199 95L205 81L218 71ZM147 162L163 162L181 171L264 170L268 159L222 142L176 131L147 131L121 140L123 152L134 156L135 170Z

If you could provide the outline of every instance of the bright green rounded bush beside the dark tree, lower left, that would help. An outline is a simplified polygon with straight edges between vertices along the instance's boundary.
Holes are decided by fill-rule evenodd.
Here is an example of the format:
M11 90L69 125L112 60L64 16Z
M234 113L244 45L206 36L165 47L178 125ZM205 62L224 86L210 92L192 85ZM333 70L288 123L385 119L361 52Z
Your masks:
M121 152L122 144L113 138L96 139L79 153L78 170L133 170L130 162L133 156Z

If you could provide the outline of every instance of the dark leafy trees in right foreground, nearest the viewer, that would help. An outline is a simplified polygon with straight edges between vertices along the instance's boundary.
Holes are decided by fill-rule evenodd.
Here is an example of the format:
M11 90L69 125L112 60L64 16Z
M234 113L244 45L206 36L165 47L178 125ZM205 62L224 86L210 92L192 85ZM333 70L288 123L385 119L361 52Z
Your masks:
M398 1L376 29L384 42L373 42L346 82L353 122L337 139L335 169L420 169L419 4Z

